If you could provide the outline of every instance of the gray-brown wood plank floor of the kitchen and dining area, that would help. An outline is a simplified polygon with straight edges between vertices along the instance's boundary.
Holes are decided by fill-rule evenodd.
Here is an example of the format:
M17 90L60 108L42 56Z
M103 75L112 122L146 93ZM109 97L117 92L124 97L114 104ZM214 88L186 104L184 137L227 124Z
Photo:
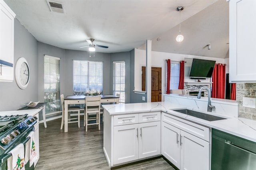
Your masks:
M40 159L35 170L110 170L103 152L103 123L88 126L85 132L81 116L77 123L68 124L60 130L61 119L39 125ZM118 170L174 170L162 157L114 168Z

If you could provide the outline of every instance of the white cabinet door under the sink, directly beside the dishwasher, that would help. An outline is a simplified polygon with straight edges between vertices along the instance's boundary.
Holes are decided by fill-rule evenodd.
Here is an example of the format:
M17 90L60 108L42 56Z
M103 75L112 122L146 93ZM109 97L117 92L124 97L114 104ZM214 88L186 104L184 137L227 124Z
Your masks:
M180 170L209 170L210 144L182 130L180 135Z

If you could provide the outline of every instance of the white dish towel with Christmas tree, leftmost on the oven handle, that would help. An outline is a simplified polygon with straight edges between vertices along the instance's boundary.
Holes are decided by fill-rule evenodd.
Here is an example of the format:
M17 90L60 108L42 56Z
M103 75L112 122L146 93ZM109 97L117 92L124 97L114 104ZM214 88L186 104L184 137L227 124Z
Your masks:
M25 170L24 164L24 145L21 143L12 149L9 153L12 154L12 159L7 159L8 170ZM11 166L11 167L10 167Z

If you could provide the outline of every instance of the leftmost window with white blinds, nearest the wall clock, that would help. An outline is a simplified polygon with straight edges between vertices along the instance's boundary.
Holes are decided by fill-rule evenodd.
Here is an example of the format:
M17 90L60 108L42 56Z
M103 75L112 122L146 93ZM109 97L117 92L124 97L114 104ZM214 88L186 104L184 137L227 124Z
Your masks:
M60 58L44 55L45 113L60 111Z

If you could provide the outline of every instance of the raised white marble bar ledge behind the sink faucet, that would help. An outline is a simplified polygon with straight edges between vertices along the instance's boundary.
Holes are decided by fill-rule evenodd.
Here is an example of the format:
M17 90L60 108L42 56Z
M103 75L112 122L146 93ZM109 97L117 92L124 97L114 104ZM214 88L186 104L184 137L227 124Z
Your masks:
M197 98L197 96L191 96L191 95L183 95L183 94L163 94L164 96L175 96L176 98L187 98L192 100L203 100L208 102L208 97L201 97L200 99ZM228 100L228 99L218 99L218 98L211 98L211 102L217 102L220 104L229 104L238 106L238 103L236 103L236 100Z

